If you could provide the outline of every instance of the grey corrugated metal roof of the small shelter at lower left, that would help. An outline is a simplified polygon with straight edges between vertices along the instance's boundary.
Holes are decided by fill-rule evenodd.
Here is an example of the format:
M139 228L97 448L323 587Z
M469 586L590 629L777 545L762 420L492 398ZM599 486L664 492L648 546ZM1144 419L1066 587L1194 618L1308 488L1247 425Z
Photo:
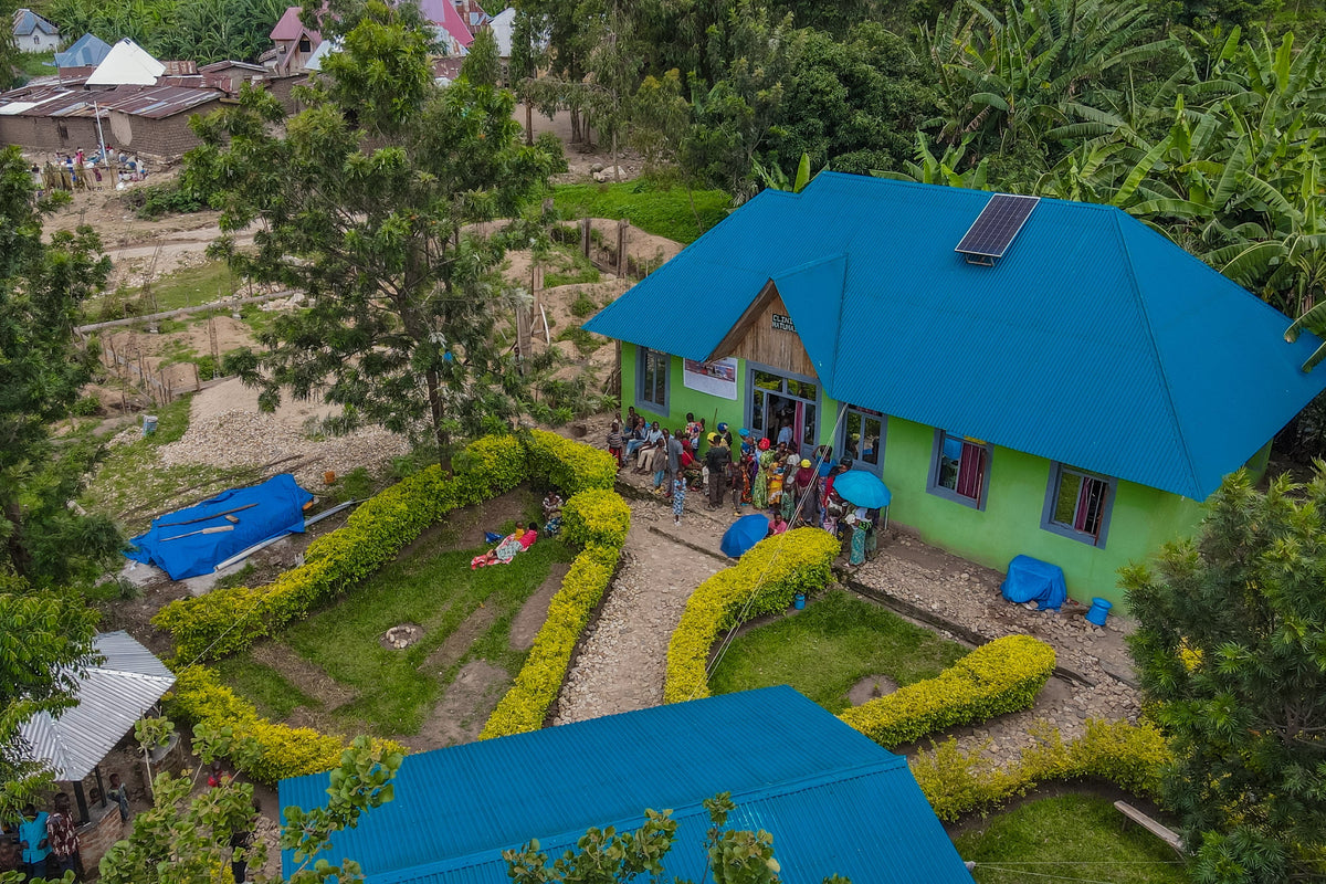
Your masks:
M175 684L175 675L127 632L102 632L93 639L93 649L102 663L80 676L78 705L58 718L37 713L19 726L58 781L77 782L90 774Z

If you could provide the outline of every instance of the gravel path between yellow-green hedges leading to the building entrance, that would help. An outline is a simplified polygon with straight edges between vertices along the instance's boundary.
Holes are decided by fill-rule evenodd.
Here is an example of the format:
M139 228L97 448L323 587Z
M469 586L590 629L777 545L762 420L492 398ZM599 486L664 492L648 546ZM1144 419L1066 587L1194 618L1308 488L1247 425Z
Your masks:
M691 592L723 562L651 531L662 517L663 506L652 501L631 504L622 570L566 675L554 724L663 702L668 640ZM672 526L671 509L666 524Z

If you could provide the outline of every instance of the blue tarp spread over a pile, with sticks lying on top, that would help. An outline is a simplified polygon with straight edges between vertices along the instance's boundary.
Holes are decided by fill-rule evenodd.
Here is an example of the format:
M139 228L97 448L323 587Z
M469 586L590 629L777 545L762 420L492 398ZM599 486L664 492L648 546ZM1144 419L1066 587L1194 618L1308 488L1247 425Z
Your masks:
M217 562L255 543L302 531L304 505L310 500L313 494L296 485L289 473L261 485L232 488L195 506L158 516L146 534L131 541L134 549L125 555L155 565L172 580L211 574ZM224 530L203 533L217 527Z

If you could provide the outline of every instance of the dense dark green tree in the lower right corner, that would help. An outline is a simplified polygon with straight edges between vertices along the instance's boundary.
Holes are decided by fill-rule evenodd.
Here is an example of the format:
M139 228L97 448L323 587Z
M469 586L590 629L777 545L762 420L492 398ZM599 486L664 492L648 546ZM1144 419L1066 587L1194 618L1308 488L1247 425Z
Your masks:
M1326 474L1208 501L1201 535L1124 571L1142 689L1170 737L1166 803L1201 881L1326 875Z

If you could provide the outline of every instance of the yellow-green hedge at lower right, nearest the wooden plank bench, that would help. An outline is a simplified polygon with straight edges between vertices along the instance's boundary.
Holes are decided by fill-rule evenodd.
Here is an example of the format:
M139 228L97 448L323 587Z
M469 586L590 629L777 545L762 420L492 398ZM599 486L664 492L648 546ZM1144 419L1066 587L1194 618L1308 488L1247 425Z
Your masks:
M1160 797L1160 770L1171 755L1164 737L1150 724L1089 718L1086 733L1069 744L1049 726L1032 733L1038 744L1013 767L996 767L980 747L964 753L949 737L916 754L912 775L935 814L949 823L964 814L993 810L1048 781L1091 777L1132 795Z

